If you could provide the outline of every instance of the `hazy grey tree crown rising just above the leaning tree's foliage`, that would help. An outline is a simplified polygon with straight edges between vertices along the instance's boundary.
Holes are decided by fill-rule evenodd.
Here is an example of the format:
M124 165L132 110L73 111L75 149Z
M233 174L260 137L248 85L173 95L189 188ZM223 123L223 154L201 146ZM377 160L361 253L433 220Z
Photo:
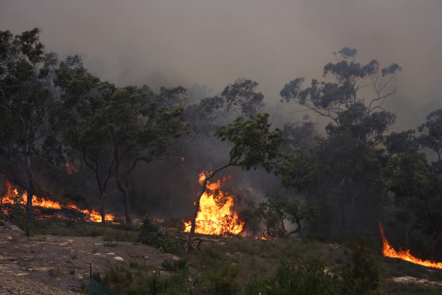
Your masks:
M261 92L255 92L258 82L238 79L233 85L226 86L221 96L227 102L227 110L235 108L240 110L245 116L253 119L259 109L264 106L264 95Z

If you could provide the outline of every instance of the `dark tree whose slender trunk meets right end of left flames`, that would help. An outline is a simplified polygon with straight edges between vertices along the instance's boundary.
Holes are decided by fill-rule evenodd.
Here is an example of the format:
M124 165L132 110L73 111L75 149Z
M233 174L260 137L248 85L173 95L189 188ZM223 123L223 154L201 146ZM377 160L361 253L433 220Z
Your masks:
M55 85L62 90L63 101L57 117L69 122L62 131L63 144L77 150L81 161L94 173L101 199L101 221L105 222L106 188L115 159L103 121L116 87L88 73L78 56L69 56L55 72Z

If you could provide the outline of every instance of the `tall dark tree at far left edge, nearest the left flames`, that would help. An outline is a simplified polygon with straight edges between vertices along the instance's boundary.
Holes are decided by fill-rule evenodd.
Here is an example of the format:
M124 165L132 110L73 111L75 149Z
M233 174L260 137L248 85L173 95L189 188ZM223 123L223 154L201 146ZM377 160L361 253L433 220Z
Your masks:
M45 54L40 29L13 36L0 31L0 156L2 174L26 190L27 218L33 219L32 157L42 151L45 123L55 100L54 53Z

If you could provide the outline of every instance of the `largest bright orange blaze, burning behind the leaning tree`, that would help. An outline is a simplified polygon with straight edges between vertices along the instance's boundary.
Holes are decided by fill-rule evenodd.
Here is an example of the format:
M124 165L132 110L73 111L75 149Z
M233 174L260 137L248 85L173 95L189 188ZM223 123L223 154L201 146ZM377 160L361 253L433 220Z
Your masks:
M199 183L202 184L205 178L204 172L199 175ZM227 177L230 178L230 177ZM222 178L222 182L226 177ZM195 233L204 235L238 235L243 231L244 222L238 214L233 211L233 198L220 190L221 181L207 182L207 188L201 196L199 211L196 215ZM216 200L222 200L223 204L217 204ZM191 221L184 222L185 232L190 232Z

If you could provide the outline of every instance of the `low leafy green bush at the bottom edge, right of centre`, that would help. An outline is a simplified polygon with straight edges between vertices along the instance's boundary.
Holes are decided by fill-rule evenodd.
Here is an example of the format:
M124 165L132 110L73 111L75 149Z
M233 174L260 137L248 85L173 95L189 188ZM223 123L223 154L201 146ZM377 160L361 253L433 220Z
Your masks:
M299 266L281 262L275 275L267 279L250 279L245 287L246 295L338 295L336 278L324 272L324 261L318 257Z

